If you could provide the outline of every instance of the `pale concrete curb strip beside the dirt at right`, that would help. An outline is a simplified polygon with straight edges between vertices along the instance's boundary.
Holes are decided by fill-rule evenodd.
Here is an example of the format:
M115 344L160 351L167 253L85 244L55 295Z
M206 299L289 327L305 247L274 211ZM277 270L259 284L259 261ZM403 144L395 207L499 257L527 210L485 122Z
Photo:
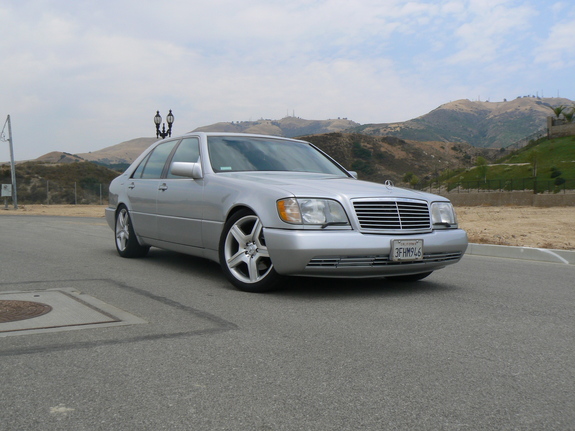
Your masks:
M503 257L507 259L535 260L539 262L575 265L575 251L549 250L546 248L510 247L493 244L469 244L465 254L474 256Z

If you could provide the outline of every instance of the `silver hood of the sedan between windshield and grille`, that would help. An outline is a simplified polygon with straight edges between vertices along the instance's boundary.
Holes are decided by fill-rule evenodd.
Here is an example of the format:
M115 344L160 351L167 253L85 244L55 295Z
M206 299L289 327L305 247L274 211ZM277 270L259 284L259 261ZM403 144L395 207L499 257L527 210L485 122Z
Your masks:
M332 175L305 172L235 172L224 175L235 181L252 182L256 189L262 187L281 189L286 196L333 199L341 199L344 196L348 199L390 197L423 199L430 202L448 201L446 198L430 193Z

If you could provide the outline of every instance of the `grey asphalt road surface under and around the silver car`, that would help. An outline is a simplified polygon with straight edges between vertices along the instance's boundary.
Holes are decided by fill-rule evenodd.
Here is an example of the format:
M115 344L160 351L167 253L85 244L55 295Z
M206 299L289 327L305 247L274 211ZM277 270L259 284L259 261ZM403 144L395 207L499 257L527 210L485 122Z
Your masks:
M1 430L575 429L573 265L258 295L202 259L122 259L103 219L3 216L0 244L0 293L75 288L148 322L0 338Z

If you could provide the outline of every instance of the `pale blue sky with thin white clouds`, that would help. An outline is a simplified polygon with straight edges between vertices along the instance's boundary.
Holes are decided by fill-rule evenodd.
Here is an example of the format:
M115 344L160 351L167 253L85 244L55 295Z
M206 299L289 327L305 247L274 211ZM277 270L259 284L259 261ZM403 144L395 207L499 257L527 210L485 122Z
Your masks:
M16 160L220 121L406 121L458 99L575 100L569 0L0 0ZM5 137L7 133L5 131ZM0 161L9 160L0 142Z

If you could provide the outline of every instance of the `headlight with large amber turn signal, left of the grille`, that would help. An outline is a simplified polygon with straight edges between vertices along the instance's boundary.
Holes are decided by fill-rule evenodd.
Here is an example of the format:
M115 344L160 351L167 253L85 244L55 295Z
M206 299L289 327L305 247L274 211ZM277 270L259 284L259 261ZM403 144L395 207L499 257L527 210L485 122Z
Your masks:
M331 199L287 198L277 202L280 218L286 223L348 225L347 216L339 202Z

